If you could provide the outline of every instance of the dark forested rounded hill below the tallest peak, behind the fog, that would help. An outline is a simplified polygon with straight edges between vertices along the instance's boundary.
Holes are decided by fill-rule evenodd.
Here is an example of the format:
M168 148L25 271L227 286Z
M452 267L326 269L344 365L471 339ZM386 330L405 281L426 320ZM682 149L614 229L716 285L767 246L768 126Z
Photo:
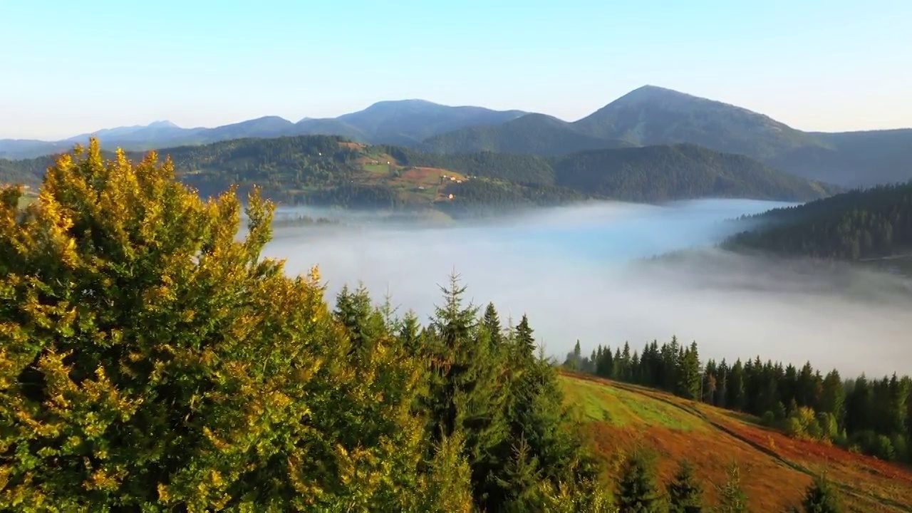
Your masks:
M645 202L699 197L806 201L837 190L743 155L692 144L578 152L558 159L554 171L558 185Z

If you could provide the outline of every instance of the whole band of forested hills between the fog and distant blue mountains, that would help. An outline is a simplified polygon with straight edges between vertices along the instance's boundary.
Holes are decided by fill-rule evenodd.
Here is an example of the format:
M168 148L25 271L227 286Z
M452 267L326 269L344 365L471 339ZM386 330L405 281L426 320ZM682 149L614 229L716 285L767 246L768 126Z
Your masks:
M579 152L546 159L478 152L440 154L368 146L336 136L238 139L159 151L204 195L254 184L289 204L399 208L463 214L491 207L565 204L587 197L658 202L701 197L805 201L834 188L779 173L741 155L692 145ZM140 160L141 152L130 154ZM37 176L48 158L7 162ZM18 168L18 169L16 169ZM0 167L0 169L4 169ZM37 179L29 181L36 183ZM451 197L452 195L452 197ZM454 211L455 209L455 211Z

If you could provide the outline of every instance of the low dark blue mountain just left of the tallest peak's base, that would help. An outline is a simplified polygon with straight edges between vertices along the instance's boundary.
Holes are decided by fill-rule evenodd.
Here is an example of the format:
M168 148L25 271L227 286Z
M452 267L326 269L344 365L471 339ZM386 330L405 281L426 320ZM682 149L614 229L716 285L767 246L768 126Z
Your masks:
M505 152L561 155L581 150L632 146L574 130L572 124L544 114L526 114L500 125L470 127L436 135L418 148L430 153Z

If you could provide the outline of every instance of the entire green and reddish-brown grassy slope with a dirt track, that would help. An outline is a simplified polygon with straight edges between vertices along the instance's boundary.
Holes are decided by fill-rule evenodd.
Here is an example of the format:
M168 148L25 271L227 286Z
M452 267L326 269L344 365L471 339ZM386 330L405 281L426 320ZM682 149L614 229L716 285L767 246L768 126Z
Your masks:
M812 476L824 469L841 489L847 511L912 511L912 472L829 445L793 440L754 424L755 419L658 391L565 373L566 400L575 407L609 468L637 445L658 452L658 473L668 482L680 458L717 484L737 459L742 484L756 511L797 506ZM707 487L710 501L715 489Z

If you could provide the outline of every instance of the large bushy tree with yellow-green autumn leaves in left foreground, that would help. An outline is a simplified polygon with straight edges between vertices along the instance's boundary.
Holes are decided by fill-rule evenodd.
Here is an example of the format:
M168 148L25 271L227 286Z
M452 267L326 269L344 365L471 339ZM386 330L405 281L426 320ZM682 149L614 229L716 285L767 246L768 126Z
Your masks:
M261 258L273 206L203 201L98 141L0 193L0 510L469 508L397 340L349 351L316 268Z

